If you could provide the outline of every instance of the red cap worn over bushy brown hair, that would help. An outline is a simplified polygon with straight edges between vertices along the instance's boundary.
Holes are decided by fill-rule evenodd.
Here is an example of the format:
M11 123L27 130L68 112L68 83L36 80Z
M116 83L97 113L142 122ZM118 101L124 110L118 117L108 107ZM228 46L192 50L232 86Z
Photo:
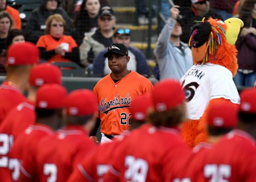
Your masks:
M185 100L185 93L179 82L166 79L154 85L152 98L156 111L162 112L182 104Z

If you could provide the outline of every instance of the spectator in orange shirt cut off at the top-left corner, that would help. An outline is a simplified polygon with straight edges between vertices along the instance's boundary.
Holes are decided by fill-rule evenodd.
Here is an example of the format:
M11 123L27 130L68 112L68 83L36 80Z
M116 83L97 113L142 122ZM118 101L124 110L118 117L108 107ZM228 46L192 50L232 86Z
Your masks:
M20 13L18 10L7 6L7 0L0 0L0 11L7 11L14 21L14 28L21 29Z

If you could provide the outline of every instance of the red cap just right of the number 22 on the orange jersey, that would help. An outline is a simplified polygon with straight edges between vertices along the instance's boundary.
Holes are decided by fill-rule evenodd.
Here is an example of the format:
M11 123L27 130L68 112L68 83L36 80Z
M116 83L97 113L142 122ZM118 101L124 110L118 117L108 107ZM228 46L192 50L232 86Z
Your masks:
M141 95L132 101L130 112L132 119L137 121L144 121L147 110L152 106L152 97L150 95Z

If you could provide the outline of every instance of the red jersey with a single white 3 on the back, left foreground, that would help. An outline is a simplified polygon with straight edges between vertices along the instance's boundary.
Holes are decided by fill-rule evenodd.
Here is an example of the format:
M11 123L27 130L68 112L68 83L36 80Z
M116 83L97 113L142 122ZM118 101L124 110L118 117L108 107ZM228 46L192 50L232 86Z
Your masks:
M44 146L44 147L42 147ZM40 181L64 182L77 164L96 144L82 126L66 126L53 136L41 140L37 148L36 167Z

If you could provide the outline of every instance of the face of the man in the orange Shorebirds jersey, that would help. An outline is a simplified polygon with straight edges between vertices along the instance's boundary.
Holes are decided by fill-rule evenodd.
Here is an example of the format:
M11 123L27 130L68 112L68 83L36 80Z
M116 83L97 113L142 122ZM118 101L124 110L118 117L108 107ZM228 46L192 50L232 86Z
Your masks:
M129 60L129 56L112 53L108 56L108 67L114 74L122 73L127 70Z

